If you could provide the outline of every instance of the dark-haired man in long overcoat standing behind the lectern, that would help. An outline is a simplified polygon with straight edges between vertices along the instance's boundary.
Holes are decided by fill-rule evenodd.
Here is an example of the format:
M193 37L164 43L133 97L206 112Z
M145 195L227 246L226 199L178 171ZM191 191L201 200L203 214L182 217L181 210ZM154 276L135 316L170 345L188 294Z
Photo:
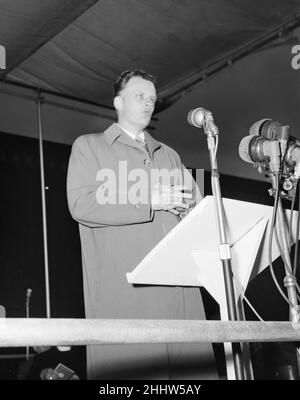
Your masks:
M118 124L80 136L72 147L67 194L79 222L87 318L205 318L198 288L126 280L192 204L182 193L183 173L172 185L151 182L154 170L184 169L173 149L145 131L155 101L154 78L125 71L114 86ZM88 379L217 378L210 344L88 346L87 368Z

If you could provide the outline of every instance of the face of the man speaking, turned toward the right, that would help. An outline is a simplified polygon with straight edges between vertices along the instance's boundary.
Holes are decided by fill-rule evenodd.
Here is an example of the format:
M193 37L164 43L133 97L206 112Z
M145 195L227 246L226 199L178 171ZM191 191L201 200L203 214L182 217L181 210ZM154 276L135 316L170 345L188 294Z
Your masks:
M156 101L156 90L152 82L140 76L133 76L116 99L119 122L139 129L146 128Z

